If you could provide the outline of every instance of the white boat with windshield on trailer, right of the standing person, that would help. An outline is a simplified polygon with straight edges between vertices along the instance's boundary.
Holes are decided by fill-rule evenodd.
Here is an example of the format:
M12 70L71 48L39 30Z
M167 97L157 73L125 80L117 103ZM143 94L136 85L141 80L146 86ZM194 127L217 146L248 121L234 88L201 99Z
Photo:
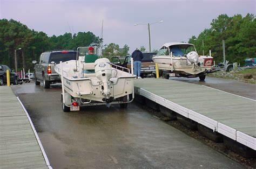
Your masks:
M152 59L165 79L176 76L204 80L213 63L211 56L199 56L194 45L187 43L166 43Z

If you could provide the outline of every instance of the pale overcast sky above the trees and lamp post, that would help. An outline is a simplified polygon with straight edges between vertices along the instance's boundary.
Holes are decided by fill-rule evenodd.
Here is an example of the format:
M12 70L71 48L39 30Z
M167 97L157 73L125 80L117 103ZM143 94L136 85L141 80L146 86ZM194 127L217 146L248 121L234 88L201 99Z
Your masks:
M100 37L104 20L104 44L115 43L120 48L127 44L130 53L140 46L149 50L147 25L134 26L135 23L164 21L150 26L153 50L167 42L187 42L188 38L210 28L212 19L223 13L255 15L256 0L0 0L1 19L18 20L48 36L91 31Z

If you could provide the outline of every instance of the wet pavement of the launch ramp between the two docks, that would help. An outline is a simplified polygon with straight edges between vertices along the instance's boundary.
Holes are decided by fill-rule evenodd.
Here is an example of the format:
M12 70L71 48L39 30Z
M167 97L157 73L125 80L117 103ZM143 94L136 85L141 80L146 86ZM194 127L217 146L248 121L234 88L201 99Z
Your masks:
M61 87L12 86L53 168L243 168L137 103L63 112Z

